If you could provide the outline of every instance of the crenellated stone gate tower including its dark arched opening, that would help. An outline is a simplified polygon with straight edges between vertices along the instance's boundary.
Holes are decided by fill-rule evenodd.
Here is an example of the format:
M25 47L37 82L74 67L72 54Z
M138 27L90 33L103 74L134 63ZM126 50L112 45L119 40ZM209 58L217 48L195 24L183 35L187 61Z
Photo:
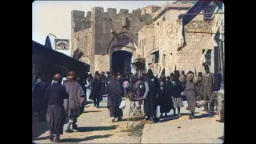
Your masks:
M148 6L132 13L120 9L117 14L114 8L104 12L102 7L94 7L86 13L86 17L85 12L73 10L71 52L80 50L84 54L80 60L90 64L91 72L111 70L125 73L130 70L132 59L141 57L136 52L138 30L153 22L152 13L159 8ZM120 67L124 68L120 70Z

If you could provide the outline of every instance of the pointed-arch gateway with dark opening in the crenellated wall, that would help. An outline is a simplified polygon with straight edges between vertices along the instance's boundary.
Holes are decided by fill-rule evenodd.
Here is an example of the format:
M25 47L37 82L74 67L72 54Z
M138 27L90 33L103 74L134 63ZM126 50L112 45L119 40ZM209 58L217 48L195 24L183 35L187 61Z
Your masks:
M137 58L137 42L134 36L126 32L116 35L107 48L110 54L110 72L112 73L135 73L132 66L134 58Z

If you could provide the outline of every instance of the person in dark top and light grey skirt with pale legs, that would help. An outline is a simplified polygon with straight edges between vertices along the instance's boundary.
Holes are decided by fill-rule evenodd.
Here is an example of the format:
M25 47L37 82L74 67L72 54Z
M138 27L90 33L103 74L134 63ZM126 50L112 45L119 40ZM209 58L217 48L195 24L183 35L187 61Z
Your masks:
M181 117L181 108L183 107L183 102L182 102L182 91L183 86L182 82L179 81L178 75L175 74L170 74L170 84L172 86L171 88L171 97L172 97L172 102L174 104L174 115L176 115L176 108L178 109L178 117Z

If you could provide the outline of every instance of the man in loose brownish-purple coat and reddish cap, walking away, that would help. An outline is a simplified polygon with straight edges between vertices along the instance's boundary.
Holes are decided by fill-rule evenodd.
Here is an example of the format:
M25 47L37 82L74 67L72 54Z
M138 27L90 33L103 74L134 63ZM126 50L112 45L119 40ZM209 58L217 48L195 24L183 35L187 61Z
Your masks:
M80 86L78 82L75 82L73 71L68 73L67 79L68 80L63 86L65 86L66 92L69 94L69 99L65 100L64 107L67 117L69 118L66 132L71 133L73 132L73 130L70 129L71 124L74 130L78 129L76 122L78 116L83 112L83 104L86 99L86 94L82 90L82 86Z

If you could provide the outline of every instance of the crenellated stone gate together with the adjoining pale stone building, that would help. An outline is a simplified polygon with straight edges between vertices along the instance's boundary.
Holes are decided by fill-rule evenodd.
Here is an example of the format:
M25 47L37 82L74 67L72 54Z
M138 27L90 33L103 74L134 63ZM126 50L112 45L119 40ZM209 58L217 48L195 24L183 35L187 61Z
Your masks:
M214 57L216 42L211 42L214 25L220 14L213 18L199 14L184 28L181 14L186 14L196 1L181 1L166 6L147 6L129 10L94 7L86 13L72 11L72 48L84 55L79 60L90 64L90 71L131 71L131 63L143 59L146 69L159 74L176 70L203 71L202 61L206 49L206 63L216 71ZM210 10L216 6L210 5ZM214 12L214 11L208 11ZM211 16L211 15L210 15ZM182 30L185 34L182 34ZM185 44L184 44L184 42ZM218 58L215 58L218 59Z

